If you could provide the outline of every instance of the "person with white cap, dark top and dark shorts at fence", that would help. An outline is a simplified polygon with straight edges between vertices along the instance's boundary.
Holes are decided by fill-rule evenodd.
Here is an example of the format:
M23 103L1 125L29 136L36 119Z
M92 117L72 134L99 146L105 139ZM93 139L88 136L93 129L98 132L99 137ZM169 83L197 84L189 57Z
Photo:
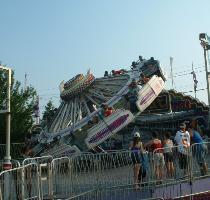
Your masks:
M131 160L133 163L133 172L134 172L134 184L135 188L139 188L139 175L141 176L141 165L142 165L142 153L143 153L143 145L140 141L139 132L134 133L133 142L130 145L129 149L131 150Z

